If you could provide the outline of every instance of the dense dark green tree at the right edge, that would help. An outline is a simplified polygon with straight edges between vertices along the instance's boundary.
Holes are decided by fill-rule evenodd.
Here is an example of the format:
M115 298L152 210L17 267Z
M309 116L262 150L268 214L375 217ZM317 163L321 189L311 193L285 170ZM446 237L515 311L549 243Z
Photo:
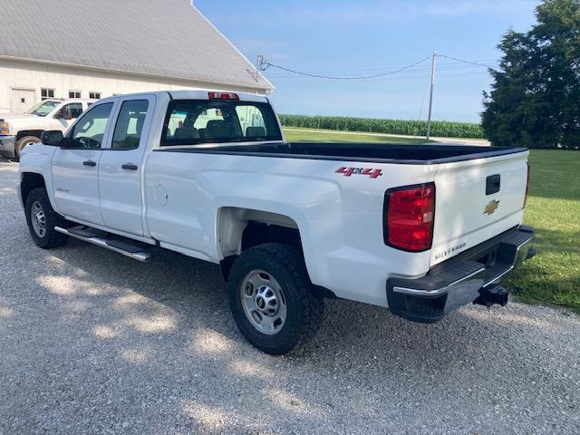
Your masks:
M580 0L545 0L526 33L509 31L481 126L498 146L580 149Z

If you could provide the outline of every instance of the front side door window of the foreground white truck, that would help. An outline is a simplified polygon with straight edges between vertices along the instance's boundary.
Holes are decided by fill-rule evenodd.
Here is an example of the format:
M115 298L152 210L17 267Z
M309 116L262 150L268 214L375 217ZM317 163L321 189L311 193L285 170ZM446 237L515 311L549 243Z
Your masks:
M112 102L93 106L70 132L73 148L100 149L111 116Z

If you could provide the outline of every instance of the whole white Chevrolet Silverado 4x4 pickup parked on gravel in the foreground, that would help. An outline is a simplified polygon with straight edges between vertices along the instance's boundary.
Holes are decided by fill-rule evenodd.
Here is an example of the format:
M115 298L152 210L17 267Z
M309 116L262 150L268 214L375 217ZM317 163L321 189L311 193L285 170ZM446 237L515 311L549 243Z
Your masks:
M266 97L193 91L106 98L42 140L20 164L36 245L217 263L266 353L307 342L324 297L423 323L506 304L502 277L535 253L526 149L287 143Z

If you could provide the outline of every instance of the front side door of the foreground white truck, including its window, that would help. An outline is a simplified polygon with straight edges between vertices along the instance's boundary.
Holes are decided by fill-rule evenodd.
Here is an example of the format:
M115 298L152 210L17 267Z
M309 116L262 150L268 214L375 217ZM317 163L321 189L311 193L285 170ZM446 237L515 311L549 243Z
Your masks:
M107 139L113 102L92 106L67 133L69 147L53 156L54 199L70 218L104 225L99 210L99 161Z

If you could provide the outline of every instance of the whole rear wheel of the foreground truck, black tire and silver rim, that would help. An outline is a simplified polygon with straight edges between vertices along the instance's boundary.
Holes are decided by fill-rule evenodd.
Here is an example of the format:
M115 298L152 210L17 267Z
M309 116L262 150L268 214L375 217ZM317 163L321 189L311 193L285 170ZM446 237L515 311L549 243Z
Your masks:
M323 320L323 299L314 295L298 251L268 243L240 256L228 279L237 326L262 352L288 353L310 341Z

